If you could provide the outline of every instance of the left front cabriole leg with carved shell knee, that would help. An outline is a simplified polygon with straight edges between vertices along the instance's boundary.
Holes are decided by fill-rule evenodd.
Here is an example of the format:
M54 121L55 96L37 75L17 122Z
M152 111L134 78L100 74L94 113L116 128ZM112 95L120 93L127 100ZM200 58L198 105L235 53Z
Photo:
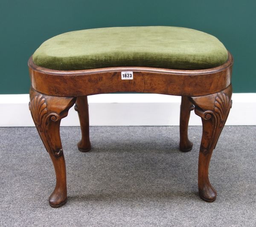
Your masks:
M49 197L49 204L52 207L60 207L67 201L66 166L60 138L60 123L76 102L76 98L48 96L32 88L29 94L29 110L52 159L56 174L56 185Z

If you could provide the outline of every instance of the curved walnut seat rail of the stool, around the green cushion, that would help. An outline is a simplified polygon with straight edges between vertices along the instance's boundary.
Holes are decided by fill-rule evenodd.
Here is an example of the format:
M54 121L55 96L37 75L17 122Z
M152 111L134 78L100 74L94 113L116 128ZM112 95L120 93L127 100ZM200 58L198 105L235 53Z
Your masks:
M171 70L116 67L58 71L35 65L29 59L32 87L52 96L77 97L112 92L145 92L181 96L216 93L230 85L233 57L224 65L205 70ZM122 80L122 71L133 71L133 80Z

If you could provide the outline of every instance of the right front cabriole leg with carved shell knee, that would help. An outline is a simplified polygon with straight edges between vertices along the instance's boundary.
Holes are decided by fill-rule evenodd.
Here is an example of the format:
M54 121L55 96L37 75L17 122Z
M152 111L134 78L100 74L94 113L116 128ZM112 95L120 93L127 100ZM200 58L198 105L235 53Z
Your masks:
M232 86L207 96L191 97L195 113L201 117L203 135L198 160L198 190L201 199L212 202L217 192L209 182L208 171L212 151L227 120L232 105Z

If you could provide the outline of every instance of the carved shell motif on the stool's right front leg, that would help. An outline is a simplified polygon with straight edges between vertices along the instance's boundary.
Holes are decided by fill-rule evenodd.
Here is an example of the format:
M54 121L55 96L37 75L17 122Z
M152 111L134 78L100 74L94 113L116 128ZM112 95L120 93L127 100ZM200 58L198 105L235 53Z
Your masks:
M227 114L230 111L230 98L224 92L217 94L214 111L220 118L219 127L222 127L226 121Z

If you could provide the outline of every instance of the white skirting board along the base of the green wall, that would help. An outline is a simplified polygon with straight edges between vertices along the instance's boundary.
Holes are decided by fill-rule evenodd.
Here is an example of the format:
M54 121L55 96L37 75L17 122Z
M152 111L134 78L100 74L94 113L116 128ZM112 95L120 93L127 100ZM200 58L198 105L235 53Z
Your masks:
M235 93L226 125L256 125L256 93ZM28 94L0 95L0 127L35 126ZM179 125L180 96L99 94L88 96L90 125ZM201 125L192 111L189 125ZM79 126L74 108L61 126Z

